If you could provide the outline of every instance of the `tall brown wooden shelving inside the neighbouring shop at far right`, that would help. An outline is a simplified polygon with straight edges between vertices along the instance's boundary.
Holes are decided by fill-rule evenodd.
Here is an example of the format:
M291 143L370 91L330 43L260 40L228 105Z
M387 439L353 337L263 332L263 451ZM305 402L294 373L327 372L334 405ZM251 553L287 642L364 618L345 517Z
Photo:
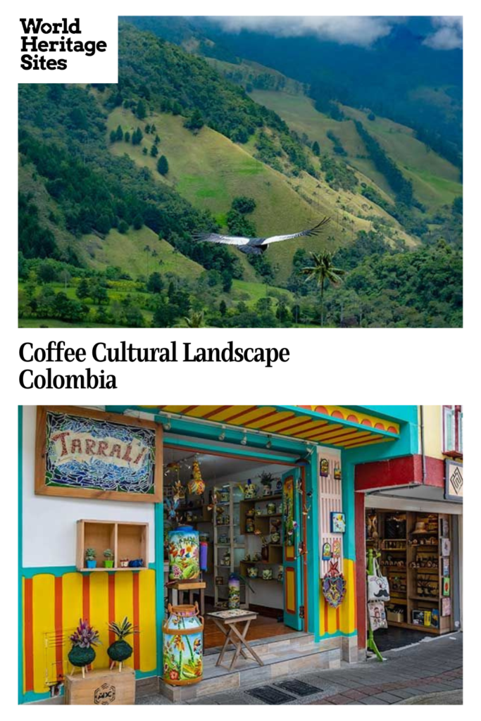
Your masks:
M372 513L372 511L371 511ZM381 553L379 562L381 564L381 572L389 578L389 588L391 590L391 601L387 606L403 606L405 607L405 621L392 622L390 626L418 629L423 632L433 634L444 634L452 631L452 615L442 616L442 586L443 586L443 557L442 544L443 538L443 522L448 526L449 535L444 536L451 540L450 559L450 578L452 578L452 528L451 518L445 513L420 513L405 512L397 510L377 510L378 516L378 539L368 539L367 547L374 547ZM406 518L406 538L388 539L386 537L386 522L389 516L405 516ZM427 534L415 534L416 523L428 521L428 516L434 526L434 519L437 519L436 531ZM436 537L436 544L428 543L428 539ZM424 540L421 544L421 539ZM417 540L417 544L412 541ZM386 548L389 545L398 545L398 548ZM389 564L389 557L392 563ZM424 558L423 558L424 557ZM402 562L404 565L396 565ZM415 563L432 563L432 566L412 567ZM425 578L423 578L423 575ZM404 583L405 579L405 583ZM425 585L436 588L435 596L422 596L419 594L420 584L423 581ZM403 590L405 585L405 590ZM397 590L394 588L397 587ZM401 590L402 589L402 590ZM452 598L451 598L452 603ZM439 614L439 627L423 626L412 623L412 611L432 611L436 609ZM452 614L452 608L451 608Z

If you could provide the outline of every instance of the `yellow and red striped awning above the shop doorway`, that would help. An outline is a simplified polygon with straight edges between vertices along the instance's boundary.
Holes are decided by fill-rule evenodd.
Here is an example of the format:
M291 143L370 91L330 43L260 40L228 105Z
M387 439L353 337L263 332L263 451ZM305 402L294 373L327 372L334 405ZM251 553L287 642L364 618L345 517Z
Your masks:
M339 448L369 446L371 443L395 441L400 435L399 423L345 406L138 406L153 412L169 413L235 425L262 433L286 435L312 443Z

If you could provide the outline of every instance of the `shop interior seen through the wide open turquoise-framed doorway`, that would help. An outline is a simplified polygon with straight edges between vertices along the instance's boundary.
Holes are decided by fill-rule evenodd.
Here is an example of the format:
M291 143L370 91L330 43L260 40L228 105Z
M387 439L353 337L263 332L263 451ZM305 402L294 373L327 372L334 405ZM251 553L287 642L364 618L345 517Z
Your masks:
M206 570L201 570L200 577L206 583L206 613L229 608L229 578L234 575L240 608L259 614L250 627L249 640L291 634L294 629L283 618L282 513L282 476L290 466L228 453L198 452L187 444L164 446L166 604L174 581L168 570L169 533L192 526L207 544ZM219 629L207 618L204 648L223 642Z

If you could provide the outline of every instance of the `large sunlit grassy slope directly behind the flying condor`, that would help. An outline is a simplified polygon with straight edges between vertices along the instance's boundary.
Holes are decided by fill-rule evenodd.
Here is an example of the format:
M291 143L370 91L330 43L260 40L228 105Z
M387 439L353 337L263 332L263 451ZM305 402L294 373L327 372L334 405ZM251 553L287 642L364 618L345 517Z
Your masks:
M139 121L125 108L115 108L107 120L107 136L118 125L124 132L132 133L137 127L145 131L147 124L154 123L161 138L159 154L164 154L169 162L169 173L165 177L156 170L157 159L150 156L153 138L149 135L144 134L137 146L124 141L111 143L110 151L115 156L128 154L138 167L148 167L156 182L174 188L195 207L211 211L224 229L226 213L237 195L255 199L257 205L250 217L261 236L297 231L314 225L323 216L330 216L331 224L322 236L294 239L270 247L268 257L278 280L285 281L290 275L296 249L318 252L348 244L356 232L370 229L371 221L366 216L371 214L392 223L392 230L387 230L388 239L398 237L407 244L414 243L393 218L363 196L332 190L322 177L316 179L307 173L288 177L253 157L254 141L239 146L206 127L193 135L184 128L183 122L181 116L167 113L151 113ZM244 255L232 252L242 262L244 279L256 280Z

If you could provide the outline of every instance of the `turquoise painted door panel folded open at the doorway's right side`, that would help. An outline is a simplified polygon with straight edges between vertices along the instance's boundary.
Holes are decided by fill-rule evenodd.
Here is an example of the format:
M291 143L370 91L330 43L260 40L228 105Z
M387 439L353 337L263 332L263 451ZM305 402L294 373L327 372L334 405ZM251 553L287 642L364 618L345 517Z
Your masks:
M297 492L301 471L293 468L283 474L283 562L284 562L284 623L301 631L302 563L299 556L301 543L301 498Z

